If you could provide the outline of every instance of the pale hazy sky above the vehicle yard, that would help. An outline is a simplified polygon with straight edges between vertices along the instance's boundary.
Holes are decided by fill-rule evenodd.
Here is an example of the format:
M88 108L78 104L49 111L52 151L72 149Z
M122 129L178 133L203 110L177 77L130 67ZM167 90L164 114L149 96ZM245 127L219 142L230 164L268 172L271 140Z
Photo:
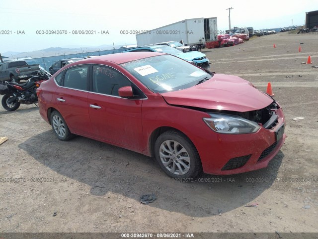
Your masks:
M151 30L198 17L217 17L223 31L229 28L229 7L232 28L266 29L305 24L306 12L318 10L318 0L0 0L0 53L134 44L134 34L120 31ZM39 34L42 30L68 33ZM95 34L72 34L79 30Z

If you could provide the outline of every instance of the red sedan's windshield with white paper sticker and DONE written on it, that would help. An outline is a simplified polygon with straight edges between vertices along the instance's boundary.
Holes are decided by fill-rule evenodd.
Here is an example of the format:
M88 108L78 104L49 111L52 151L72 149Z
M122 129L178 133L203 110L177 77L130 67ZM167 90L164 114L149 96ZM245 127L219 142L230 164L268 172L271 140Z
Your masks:
M200 68L170 55L160 55L121 64L155 93L192 87L212 76Z

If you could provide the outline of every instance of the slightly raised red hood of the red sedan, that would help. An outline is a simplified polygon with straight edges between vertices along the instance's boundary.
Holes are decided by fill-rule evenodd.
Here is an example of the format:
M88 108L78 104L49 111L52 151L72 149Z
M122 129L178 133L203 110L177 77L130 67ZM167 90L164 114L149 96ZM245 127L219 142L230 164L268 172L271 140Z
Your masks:
M247 112L269 106L273 99L238 76L214 74L197 86L162 93L170 105Z

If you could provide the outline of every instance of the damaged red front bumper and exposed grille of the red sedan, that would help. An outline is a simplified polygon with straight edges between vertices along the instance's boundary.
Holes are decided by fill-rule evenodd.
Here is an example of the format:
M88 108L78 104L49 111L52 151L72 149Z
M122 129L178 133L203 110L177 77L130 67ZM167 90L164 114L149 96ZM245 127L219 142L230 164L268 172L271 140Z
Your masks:
M271 115L261 116L266 111L271 111ZM247 119L246 113L244 114ZM264 123L258 122L262 127L257 132L248 134L212 132L196 145L205 173L228 175L257 170L267 167L269 161L279 152L286 138L285 118L279 105L274 102L260 111L248 112L248 115L250 119L266 119Z

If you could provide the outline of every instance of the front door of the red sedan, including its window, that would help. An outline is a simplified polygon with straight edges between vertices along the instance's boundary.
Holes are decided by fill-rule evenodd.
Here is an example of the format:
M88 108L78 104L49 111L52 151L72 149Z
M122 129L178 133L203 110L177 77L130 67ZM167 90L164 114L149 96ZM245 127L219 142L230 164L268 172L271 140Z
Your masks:
M93 65L91 69L91 92L87 102L94 135L141 149L143 93L113 67ZM119 97L118 89L124 86L133 87L134 99Z

